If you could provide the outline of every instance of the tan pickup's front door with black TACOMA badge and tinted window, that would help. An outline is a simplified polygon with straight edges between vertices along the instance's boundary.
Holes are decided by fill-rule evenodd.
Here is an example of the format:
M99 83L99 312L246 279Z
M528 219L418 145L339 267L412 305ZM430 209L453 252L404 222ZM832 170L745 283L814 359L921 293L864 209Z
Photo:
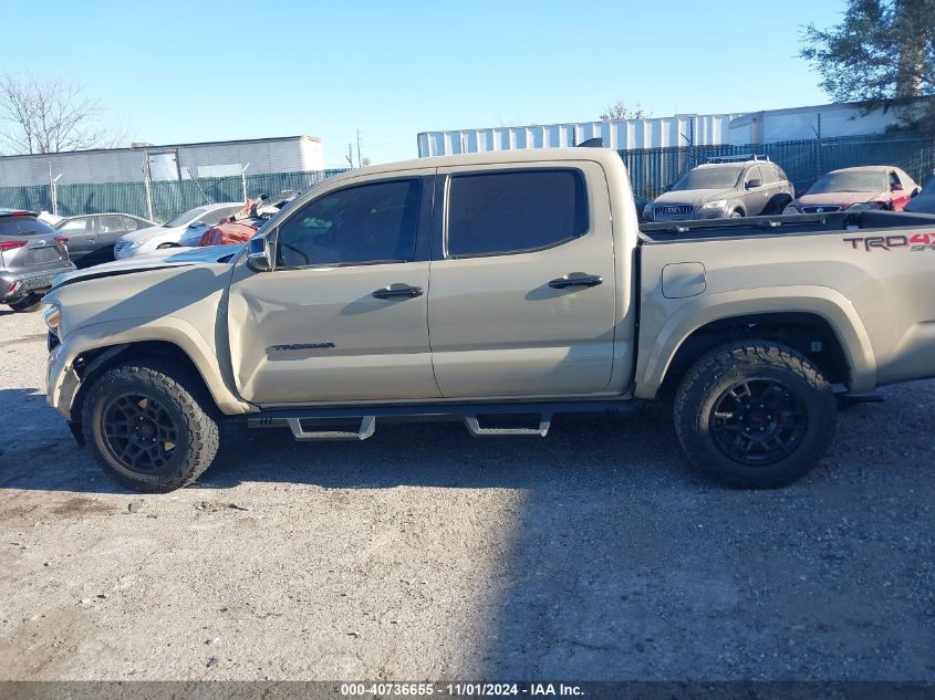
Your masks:
M310 192L277 227L272 271L240 263L228 330L254 404L437 397L428 345L434 169Z

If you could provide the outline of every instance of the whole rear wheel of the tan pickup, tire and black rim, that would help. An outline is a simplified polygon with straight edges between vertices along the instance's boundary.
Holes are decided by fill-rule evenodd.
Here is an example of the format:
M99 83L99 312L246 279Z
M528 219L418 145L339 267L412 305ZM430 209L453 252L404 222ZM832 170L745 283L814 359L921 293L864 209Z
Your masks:
M678 387L675 429L688 461L721 482L769 489L800 479L827 452L837 409L807 357L769 341L702 357Z

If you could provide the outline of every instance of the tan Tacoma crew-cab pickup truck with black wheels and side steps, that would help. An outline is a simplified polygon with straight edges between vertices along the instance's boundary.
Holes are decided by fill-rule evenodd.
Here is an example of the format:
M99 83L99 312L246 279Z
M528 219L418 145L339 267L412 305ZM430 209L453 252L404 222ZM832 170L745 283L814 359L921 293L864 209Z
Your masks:
M329 179L242 248L58 280L49 401L145 491L195 480L224 424L544 437L554 414L666 397L689 462L777 487L824 453L835 389L935 376L933 273L924 215L641 232L613 150L426 158Z

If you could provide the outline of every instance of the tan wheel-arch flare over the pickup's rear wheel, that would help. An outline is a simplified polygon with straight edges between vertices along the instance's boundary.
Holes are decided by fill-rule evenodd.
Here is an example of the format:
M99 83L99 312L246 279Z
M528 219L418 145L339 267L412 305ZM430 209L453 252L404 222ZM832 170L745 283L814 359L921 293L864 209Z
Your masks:
M715 321L768 313L812 313L827 321L851 369L851 390L866 391L876 386L870 336L848 297L827 286L797 285L703 294L684 300L667 313L661 306L644 307L640 347L646 349L637 357L634 395L655 398L676 352L698 328Z

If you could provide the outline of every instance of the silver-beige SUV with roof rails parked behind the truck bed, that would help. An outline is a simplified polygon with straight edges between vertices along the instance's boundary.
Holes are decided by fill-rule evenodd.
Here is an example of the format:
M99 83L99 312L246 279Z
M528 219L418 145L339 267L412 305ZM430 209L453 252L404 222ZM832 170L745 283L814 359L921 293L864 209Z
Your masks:
M781 213L796 196L786 173L766 156L711 158L692 168L643 210L644 221L721 219Z

